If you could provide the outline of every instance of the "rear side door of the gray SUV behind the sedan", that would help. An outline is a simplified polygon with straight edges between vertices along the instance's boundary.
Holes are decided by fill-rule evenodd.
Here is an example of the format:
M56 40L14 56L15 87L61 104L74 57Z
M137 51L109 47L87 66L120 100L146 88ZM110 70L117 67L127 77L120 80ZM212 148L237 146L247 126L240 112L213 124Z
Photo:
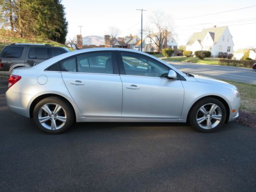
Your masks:
M30 65L34 66L38 63L49 59L49 51L48 48L45 47L30 47L28 50L27 58L25 62Z

